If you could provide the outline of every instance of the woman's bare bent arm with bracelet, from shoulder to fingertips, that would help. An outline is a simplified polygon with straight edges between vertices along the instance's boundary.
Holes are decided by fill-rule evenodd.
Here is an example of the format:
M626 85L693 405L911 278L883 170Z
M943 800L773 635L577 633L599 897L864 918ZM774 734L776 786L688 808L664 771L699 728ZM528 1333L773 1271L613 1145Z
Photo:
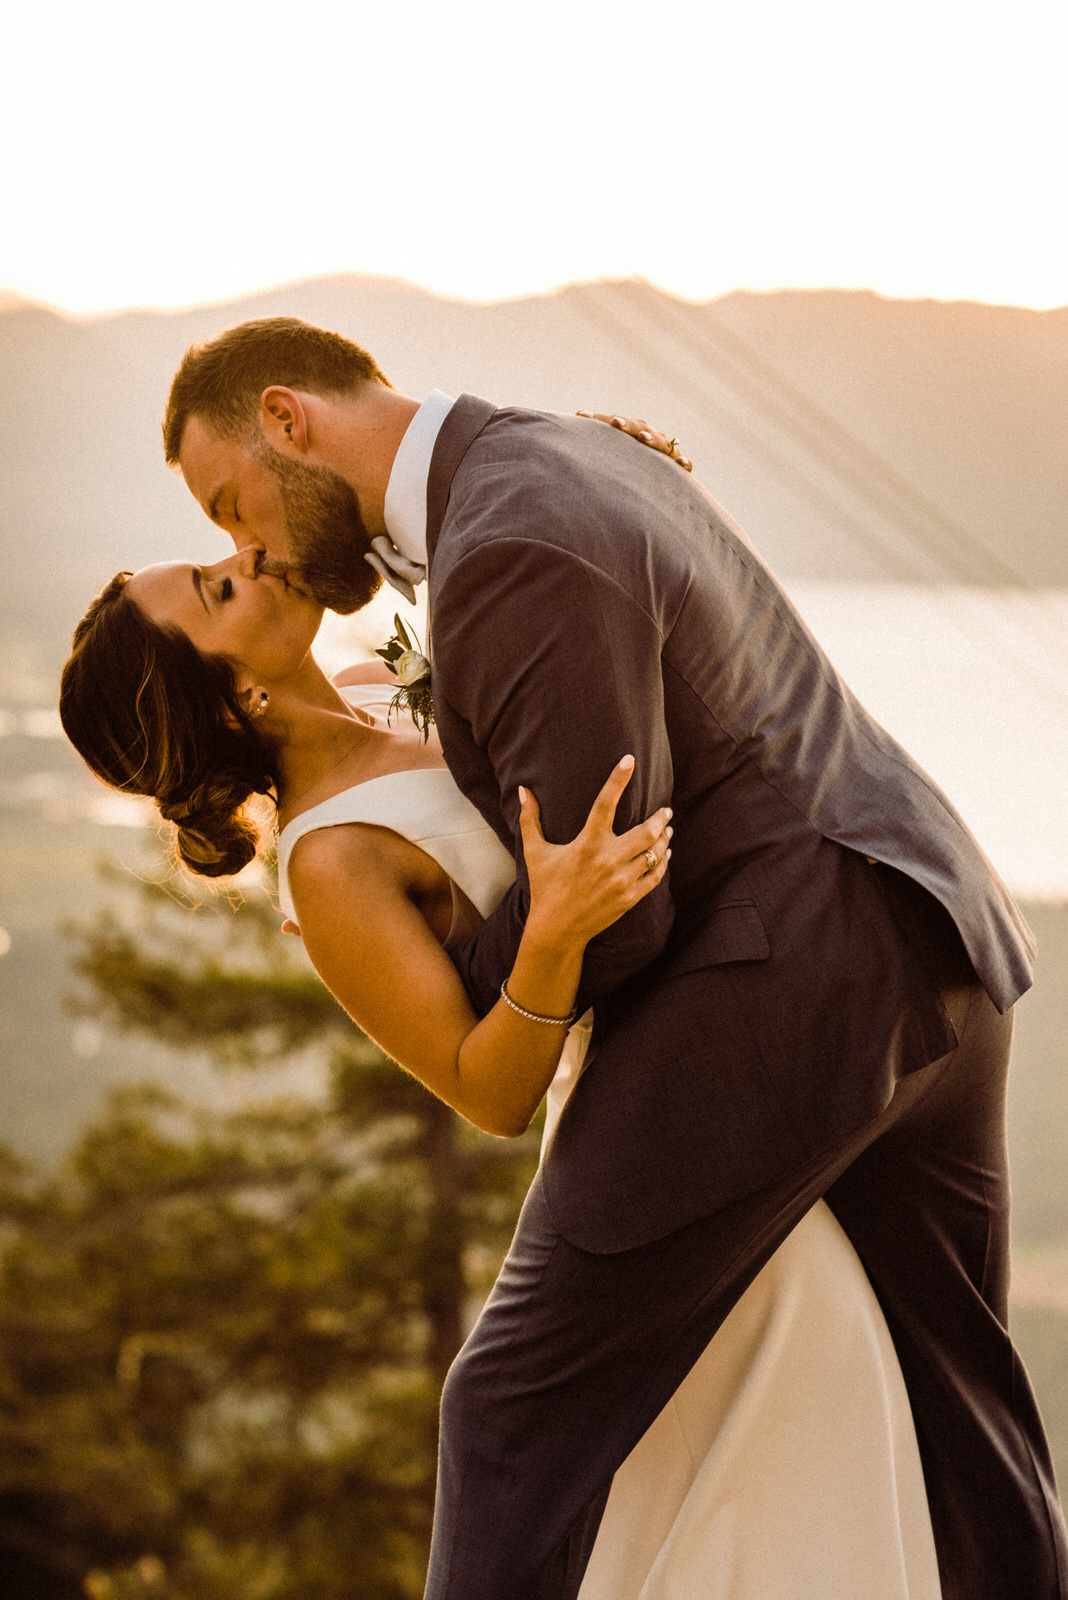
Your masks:
M408 840L349 824L294 848L289 886L326 987L389 1056L486 1133L528 1126L560 1061L588 939L664 875L668 813L612 834L630 770L616 768L569 845L547 843L537 803L523 802L531 912L507 987L516 1006L560 1022L532 1021L504 998L478 1021L420 910L444 875Z

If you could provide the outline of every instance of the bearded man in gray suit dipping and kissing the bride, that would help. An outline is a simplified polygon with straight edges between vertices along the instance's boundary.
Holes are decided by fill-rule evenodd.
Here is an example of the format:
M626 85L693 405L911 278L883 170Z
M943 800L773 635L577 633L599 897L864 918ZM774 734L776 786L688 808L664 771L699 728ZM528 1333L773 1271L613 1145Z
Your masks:
M1006 1331L1031 938L740 530L611 429L420 406L288 318L190 350L165 438L235 542L334 610L428 568L446 758L510 848L520 782L571 838L625 752L619 826L675 810L670 880L590 946L596 1054L446 1384L427 1594L577 1592L614 1469L823 1195L894 1334L946 1600L1063 1600ZM518 944L518 866L456 952L480 1013Z

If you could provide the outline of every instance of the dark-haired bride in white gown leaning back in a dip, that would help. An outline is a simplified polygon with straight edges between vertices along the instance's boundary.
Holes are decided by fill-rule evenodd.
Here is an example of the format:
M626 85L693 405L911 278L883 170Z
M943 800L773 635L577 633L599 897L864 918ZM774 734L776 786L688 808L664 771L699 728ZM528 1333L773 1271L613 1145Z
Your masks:
M625 763L566 846L542 838L524 797L531 910L478 1021L448 949L513 862L433 736L390 718L385 669L325 677L310 654L320 621L261 573L256 549L120 574L75 634L64 726L98 776L157 798L182 859L209 877L253 858L246 802L273 797L283 906L350 1016L491 1133L524 1130L548 1090L552 1136L588 1040L588 1018L566 1027L585 942L664 875L668 816L612 834ZM938 1594L894 1347L820 1203L619 1469L582 1600Z

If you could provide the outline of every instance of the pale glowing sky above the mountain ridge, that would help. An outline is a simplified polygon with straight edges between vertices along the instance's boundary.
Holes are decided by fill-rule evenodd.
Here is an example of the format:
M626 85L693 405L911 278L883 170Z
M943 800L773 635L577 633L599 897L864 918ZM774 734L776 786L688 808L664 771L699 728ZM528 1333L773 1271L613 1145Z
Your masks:
M0 288L1060 306L1066 82L1065 0L34 0L0 35Z

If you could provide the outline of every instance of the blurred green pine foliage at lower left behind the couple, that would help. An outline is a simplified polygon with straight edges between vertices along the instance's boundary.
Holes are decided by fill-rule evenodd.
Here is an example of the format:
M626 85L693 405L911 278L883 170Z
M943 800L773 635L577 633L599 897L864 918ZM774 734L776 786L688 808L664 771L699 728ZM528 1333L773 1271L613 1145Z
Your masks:
M130 912L126 912L130 915ZM0 1547L94 1600L422 1592L441 1378L532 1141L467 1128L325 997L262 898L137 891L78 1006L320 1102L117 1094L62 1168L0 1155Z

